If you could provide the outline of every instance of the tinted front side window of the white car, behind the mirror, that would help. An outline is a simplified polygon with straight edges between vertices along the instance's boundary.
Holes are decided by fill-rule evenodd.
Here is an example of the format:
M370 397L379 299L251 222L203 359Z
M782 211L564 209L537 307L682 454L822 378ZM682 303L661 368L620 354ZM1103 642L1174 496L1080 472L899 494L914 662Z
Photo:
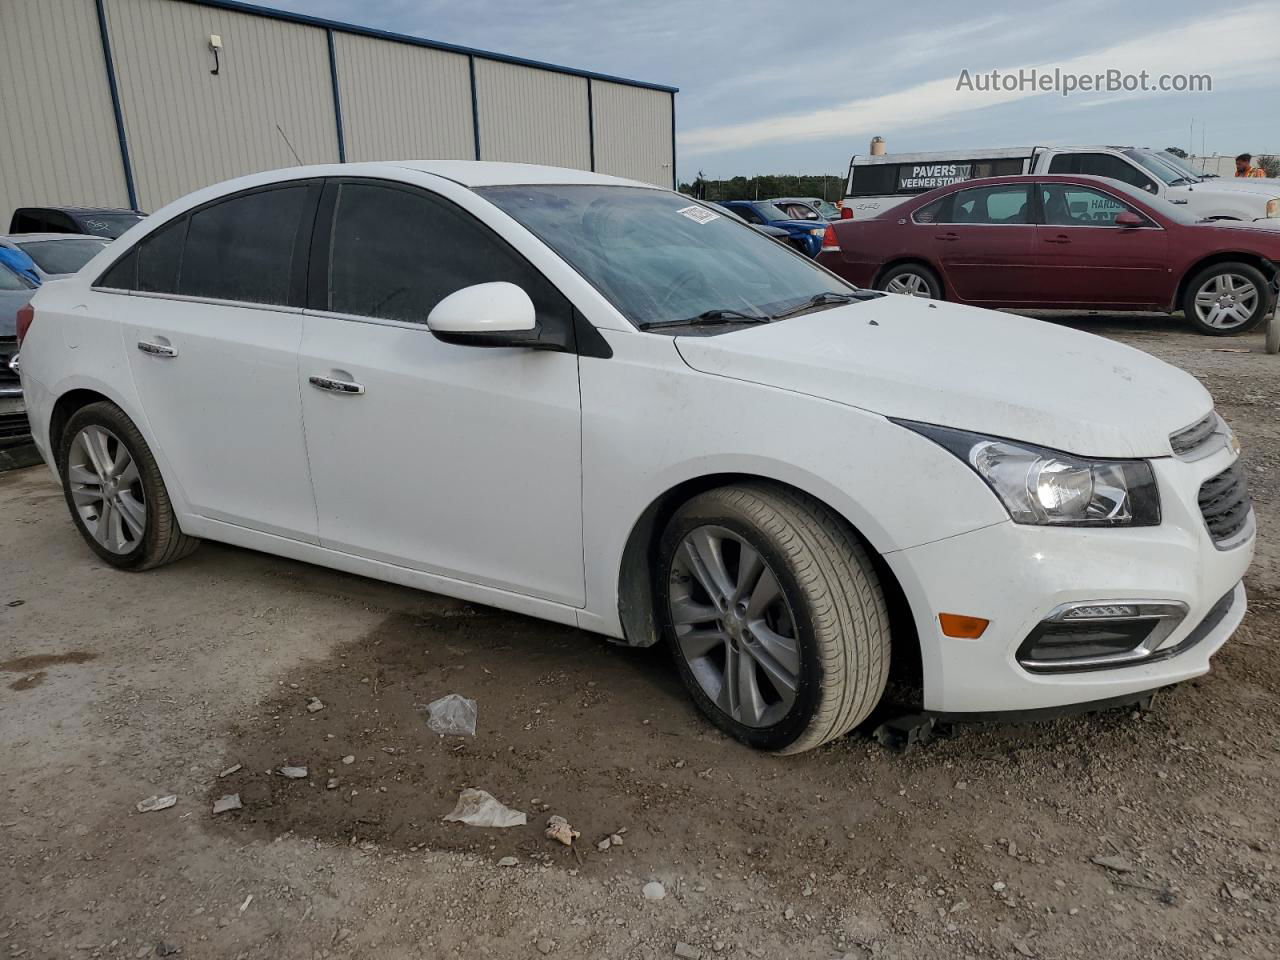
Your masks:
M539 324L571 323L568 301L467 211L412 188L338 184L324 307L425 324L463 287L504 280L534 301Z

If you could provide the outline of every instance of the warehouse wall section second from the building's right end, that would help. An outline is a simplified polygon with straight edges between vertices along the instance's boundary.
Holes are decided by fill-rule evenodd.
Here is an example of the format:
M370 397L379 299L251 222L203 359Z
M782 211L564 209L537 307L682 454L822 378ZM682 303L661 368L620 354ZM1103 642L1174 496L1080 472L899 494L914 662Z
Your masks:
M591 169L586 79L476 58L480 159Z

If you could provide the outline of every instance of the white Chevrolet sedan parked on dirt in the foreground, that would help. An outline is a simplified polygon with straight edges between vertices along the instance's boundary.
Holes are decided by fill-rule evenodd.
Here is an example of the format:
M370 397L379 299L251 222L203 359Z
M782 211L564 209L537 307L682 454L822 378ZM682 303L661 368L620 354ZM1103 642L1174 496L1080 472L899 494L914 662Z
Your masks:
M941 714L1133 701L1240 622L1254 520L1189 375L849 287L666 189L520 164L193 193L19 320L108 563L221 540L632 645L758 748L890 667Z

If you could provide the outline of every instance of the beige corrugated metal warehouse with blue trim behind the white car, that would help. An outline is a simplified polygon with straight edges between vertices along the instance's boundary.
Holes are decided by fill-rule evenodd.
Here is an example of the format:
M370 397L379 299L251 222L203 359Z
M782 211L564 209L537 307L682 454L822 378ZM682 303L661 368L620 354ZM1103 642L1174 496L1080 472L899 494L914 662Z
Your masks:
M0 0L0 230L298 163L483 159L675 183L673 87L233 0Z

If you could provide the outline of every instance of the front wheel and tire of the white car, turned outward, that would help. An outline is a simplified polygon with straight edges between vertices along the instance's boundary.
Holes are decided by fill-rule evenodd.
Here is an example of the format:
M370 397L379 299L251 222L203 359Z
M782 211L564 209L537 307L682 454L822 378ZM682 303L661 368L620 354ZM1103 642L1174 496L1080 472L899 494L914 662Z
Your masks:
M699 709L737 740L801 753L884 691L890 627L870 557L841 517L767 484L684 504L659 544L658 614Z

